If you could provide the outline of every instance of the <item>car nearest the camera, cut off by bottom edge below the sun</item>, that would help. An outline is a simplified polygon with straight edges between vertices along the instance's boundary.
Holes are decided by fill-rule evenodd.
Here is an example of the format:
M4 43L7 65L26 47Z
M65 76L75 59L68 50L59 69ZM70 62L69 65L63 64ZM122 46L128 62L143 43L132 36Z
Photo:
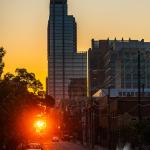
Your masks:
M43 150L43 148L39 143L29 143L24 146L23 150Z

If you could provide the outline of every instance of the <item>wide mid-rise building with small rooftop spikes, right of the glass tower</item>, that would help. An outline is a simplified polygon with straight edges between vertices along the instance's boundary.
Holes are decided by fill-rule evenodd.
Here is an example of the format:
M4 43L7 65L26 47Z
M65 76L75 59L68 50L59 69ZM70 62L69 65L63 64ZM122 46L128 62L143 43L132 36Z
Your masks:
M92 88L136 89L139 70L141 87L150 88L150 42L143 39L104 42L105 46L101 46L102 41L92 41L89 53ZM93 84L95 81L97 85Z

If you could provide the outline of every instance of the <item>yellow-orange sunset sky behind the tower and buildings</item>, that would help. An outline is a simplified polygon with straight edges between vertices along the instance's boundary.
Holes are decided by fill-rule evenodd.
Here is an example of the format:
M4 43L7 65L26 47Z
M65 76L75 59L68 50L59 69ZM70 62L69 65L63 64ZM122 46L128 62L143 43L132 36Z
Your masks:
M150 0L68 0L76 17L78 49L90 40L124 37L150 41ZM0 46L5 72L27 68L45 85L49 0L0 0Z

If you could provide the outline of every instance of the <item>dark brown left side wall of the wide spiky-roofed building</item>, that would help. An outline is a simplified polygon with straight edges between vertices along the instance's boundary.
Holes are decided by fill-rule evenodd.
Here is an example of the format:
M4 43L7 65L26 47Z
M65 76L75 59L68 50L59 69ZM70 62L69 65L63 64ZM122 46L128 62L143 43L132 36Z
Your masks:
M91 79L92 94L104 87L105 62L104 55L109 49L109 40L91 41L92 47L88 51L89 78Z

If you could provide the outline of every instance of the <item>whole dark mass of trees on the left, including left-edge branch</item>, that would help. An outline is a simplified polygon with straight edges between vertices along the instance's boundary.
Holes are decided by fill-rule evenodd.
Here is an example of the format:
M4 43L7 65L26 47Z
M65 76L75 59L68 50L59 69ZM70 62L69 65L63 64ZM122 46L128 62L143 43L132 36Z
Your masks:
M45 94L42 83L36 79L34 73L28 72L25 68L17 68L15 74L6 73L1 78L5 53L4 48L1 47L0 149L5 143L9 150L16 149L15 143L28 137L25 128L28 126L29 130L32 129L32 117L42 113L42 105L53 106L55 100ZM14 147L12 144L15 144Z

